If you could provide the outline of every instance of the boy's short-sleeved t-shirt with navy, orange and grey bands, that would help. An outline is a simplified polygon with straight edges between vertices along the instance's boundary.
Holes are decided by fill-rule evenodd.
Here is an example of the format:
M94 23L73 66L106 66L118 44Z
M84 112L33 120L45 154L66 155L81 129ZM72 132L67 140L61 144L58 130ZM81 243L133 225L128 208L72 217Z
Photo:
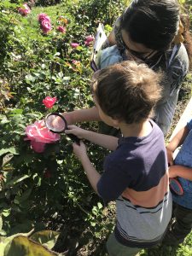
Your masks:
M164 137L153 126L147 137L122 137L104 161L97 183L105 202L116 200L116 239L126 246L158 243L172 215Z

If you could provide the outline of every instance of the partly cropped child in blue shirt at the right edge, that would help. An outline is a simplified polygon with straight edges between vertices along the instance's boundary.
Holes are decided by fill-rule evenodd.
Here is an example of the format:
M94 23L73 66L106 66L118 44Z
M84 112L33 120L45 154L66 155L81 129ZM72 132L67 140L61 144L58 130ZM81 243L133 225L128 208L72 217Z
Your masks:
M169 175L178 177L183 188L183 195L172 194L173 217L175 222L166 233L164 244L177 246L192 229L192 119L185 125L166 146ZM183 145L182 145L183 144ZM173 153L182 145L173 161Z

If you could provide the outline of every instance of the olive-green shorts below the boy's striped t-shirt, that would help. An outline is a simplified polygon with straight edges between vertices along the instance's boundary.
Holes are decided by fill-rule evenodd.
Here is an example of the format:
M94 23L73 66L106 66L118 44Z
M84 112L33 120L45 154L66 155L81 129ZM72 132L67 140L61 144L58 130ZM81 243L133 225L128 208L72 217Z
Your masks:
M116 240L114 233L108 237L107 249L110 256L134 256L142 250L142 248L137 247L125 247Z

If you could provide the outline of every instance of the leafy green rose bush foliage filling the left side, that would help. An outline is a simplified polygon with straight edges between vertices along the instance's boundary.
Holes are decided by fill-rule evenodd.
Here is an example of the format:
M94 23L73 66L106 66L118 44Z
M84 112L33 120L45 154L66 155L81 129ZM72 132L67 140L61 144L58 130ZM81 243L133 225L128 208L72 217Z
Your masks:
M91 16L91 2L86 4L89 6L87 15ZM100 8L98 3L92 4ZM102 3L103 8L104 4L108 5ZM113 9L112 4L118 9L116 3L110 4L108 9ZM83 13L83 1L75 4L68 1L46 9L33 7L27 16L18 14L20 5L20 2L0 3L0 24L3 24L0 25L0 43L3 45L0 61L3 92L0 106L0 214L3 225L0 234L10 236L26 232L33 226L37 231L42 230L47 223L54 224L58 219L73 225L73 219L76 219L76 222L90 225L90 233L96 233L96 237L106 236L105 227L111 230L113 219L108 224L99 198L84 177L79 161L74 158L67 137L62 136L60 143L47 145L43 154L35 153L30 143L24 140L26 125L43 119L48 113L42 104L45 96L57 97L54 111L58 112L93 105L89 87L91 46L85 46L84 40L96 32L96 23L90 27L90 20ZM46 13L51 19L52 30L47 35L40 30L39 13ZM61 15L67 19L67 24L59 20ZM65 34L57 32L59 25L67 27ZM111 29L109 25L106 28L107 32ZM78 42L79 48L73 49L70 45L73 42ZM73 60L79 64L75 65ZM97 129L95 123L92 128ZM103 154L107 152L92 145L88 147L91 159L102 171ZM82 214L79 215L79 211ZM18 237L20 239L27 246L31 243Z

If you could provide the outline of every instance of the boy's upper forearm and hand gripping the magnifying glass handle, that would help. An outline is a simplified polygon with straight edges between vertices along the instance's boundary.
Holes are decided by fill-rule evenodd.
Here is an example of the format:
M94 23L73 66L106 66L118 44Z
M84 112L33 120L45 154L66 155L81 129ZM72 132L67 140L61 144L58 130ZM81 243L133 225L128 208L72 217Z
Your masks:
M84 138L91 143L96 143L99 146L102 146L103 148L108 148L109 150L115 150L118 146L118 138L97 133L94 131L87 131L84 129L79 128L76 125L69 125L69 130L66 130L66 134L74 134L79 138Z

